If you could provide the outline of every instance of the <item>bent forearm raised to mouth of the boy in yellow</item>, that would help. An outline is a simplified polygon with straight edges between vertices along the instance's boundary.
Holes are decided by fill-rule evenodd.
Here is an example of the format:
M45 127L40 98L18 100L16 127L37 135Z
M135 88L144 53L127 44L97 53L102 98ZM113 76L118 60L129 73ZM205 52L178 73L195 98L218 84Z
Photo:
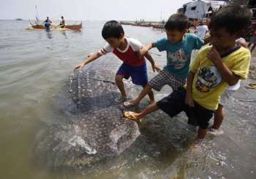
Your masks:
M214 63L214 65L217 66L219 74L222 76L222 79L227 82L228 85L235 85L241 78L240 76L233 73L233 71L230 71L229 68L227 68L227 65L222 62L219 52L217 52L214 47L212 47L211 50L208 52L207 57Z

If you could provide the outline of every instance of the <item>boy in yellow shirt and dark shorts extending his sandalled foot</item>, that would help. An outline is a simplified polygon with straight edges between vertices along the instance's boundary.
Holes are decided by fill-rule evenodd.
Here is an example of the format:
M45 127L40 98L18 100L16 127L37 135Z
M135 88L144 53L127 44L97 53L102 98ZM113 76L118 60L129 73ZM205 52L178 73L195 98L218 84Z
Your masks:
M205 138L208 122L217 110L227 85L246 79L250 52L236 45L241 31L249 26L252 13L246 7L229 5L220 9L209 25L212 46L200 51L190 65L187 89L181 87L140 113L127 111L129 119L138 121L159 108L170 117L184 111L189 124L198 125L197 138Z

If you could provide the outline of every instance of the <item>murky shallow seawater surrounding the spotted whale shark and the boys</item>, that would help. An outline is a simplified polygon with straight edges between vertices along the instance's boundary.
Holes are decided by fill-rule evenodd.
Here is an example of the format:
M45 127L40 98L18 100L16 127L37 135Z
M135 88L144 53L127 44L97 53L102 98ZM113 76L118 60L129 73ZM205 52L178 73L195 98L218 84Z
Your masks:
M72 68L105 45L104 23L85 21L80 32L45 32L24 30L29 21L0 20L0 178L255 178L256 93L244 86L227 103L224 135L196 143L196 129L184 114L170 119L158 111L143 120L140 136L119 156L75 169L38 161L39 136L64 120L54 97L68 90ZM143 44L165 36L152 28L124 25L124 31ZM162 67L165 53L152 52ZM99 61L108 68L108 60L121 64L113 55ZM149 63L148 73L156 74ZM130 98L138 92L132 89ZM156 98L170 92L165 87ZM147 105L146 98L136 110Z

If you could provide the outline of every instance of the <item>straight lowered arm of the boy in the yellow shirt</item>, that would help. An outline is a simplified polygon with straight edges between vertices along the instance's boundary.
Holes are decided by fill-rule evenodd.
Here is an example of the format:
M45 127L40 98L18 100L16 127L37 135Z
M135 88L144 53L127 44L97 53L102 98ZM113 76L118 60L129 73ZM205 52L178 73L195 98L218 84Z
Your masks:
M189 74L187 76L187 92L186 92L186 99L185 104L187 106L195 106L194 100L192 98L192 83L195 77L195 73L192 71L189 71Z

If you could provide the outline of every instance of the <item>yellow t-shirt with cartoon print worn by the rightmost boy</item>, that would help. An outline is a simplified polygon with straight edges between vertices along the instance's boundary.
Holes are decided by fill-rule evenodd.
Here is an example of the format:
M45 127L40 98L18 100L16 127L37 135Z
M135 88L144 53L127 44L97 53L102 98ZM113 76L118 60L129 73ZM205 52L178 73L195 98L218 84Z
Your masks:
M202 49L190 65L190 71L195 73L192 83L192 98L200 106L216 110L220 97L227 87L227 82L222 79L214 63L207 58L210 49L211 47ZM222 58L227 68L241 79L246 79L248 75L250 59L251 53L244 47L240 47Z

